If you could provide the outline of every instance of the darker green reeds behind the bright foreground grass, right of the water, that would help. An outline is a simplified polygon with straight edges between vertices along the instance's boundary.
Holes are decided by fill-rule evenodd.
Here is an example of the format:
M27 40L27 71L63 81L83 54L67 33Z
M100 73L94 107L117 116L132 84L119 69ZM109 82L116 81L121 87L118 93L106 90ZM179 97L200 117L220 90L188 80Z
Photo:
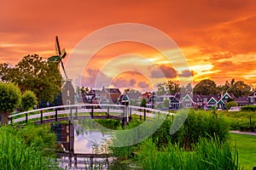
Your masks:
M132 151L139 148L138 139L142 139L143 134L148 133L151 129L155 129L151 138L159 149L168 144L178 144L183 150L194 150L193 146L199 142L200 138L215 139L215 137L218 137L218 140L224 143L229 134L229 124L223 118L212 113L206 114L205 111L189 111L189 116L182 127L172 135L169 133L172 126L172 116L167 116L160 127L157 127L158 121L159 119L148 120L147 123L140 125L142 127L141 131L136 131L134 127L137 127L141 122L135 120L125 127L125 129L133 128L134 131L131 134L123 135L122 132L119 133L118 131L115 139L113 139L113 145L122 144L124 147L110 147L113 156L118 156L121 159L131 156ZM122 128L119 127L119 130L121 131ZM129 146L132 142L134 142L134 145Z

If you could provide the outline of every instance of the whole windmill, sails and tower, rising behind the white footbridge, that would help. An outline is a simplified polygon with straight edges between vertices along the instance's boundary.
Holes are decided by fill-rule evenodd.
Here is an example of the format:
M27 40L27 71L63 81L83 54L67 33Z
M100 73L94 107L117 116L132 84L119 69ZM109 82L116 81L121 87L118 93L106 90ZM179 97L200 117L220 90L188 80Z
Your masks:
M74 88L72 80L67 78L67 72L62 61L66 57L67 53L65 48L61 49L60 42L57 36L55 40L55 53L56 55L51 56L48 60L51 62L55 62L57 65L60 65L60 69L62 69L62 71L64 72L64 77L62 77L61 83L61 103L62 105L73 105Z

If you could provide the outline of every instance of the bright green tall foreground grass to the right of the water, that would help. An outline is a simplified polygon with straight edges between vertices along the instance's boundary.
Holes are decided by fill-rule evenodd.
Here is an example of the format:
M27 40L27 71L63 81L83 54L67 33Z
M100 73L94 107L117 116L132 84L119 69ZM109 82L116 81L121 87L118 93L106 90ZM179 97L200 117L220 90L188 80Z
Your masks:
M184 151L177 144L168 144L160 150L152 139L141 144L137 155L138 167L143 169L239 169L237 151L217 138L200 138L195 151ZM234 152L232 152L234 151Z

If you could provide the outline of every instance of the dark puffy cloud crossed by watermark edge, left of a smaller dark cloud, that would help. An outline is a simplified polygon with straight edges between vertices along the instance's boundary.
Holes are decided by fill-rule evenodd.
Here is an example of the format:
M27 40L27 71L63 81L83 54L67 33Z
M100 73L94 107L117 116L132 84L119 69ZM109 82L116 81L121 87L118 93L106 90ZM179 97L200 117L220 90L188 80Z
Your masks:
M171 66L166 65L153 65L153 70L151 71L151 77L153 78L175 78L177 77L177 71Z

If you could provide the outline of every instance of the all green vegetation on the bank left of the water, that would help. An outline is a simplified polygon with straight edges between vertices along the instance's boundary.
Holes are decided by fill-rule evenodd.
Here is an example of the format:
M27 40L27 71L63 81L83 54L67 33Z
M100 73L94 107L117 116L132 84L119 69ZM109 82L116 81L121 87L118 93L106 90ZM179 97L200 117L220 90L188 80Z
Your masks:
M52 147L52 143L49 141L55 141L55 136L46 132L46 129L39 128L38 132L38 128L33 128L33 132L37 133L31 133L32 131L27 131L28 128L31 127L24 129L0 127L1 169L58 169L58 166L50 159L45 150ZM45 137L46 139L44 139ZM37 141L37 139L42 140ZM47 141L47 139L50 140Z

